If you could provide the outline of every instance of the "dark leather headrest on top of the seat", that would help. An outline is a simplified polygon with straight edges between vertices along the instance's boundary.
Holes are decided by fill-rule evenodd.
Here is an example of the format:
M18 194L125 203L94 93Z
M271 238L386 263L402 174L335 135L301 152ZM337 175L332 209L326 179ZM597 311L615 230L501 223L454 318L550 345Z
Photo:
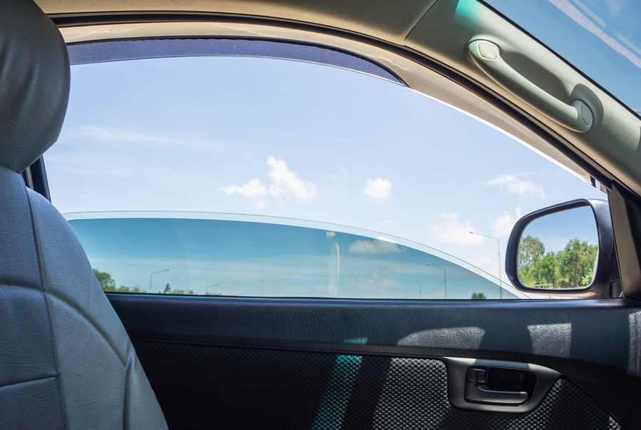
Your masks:
M31 0L0 11L0 165L21 172L58 138L69 60L53 22Z

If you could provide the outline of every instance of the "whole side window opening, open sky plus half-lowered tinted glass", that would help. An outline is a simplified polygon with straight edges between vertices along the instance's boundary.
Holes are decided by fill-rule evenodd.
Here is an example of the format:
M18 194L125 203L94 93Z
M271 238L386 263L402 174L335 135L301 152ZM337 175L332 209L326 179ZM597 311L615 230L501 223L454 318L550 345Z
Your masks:
M448 290L447 298L523 297L506 282L501 261L513 223L546 205L605 194L501 130L412 91L394 76L349 68L260 56L73 66L66 123L45 161L53 204L78 232L96 275L112 290L133 292L445 298ZM225 285L220 270L187 276L165 261L176 257L175 244L165 245L171 247L165 260L158 256L160 245L155 253L138 255L149 264L134 276L123 269L132 258L131 242L122 240L118 247L109 235L92 235L89 228L93 219L93 231L101 231L96 220L118 216L96 213L113 211L138 211L139 222L206 213L199 217L217 234L240 231L223 228L230 226L224 222L262 225L262 236L253 235L253 242L237 237L236 245L245 244L238 248L241 254L245 249L243 264L255 257L252 252L276 252L275 240L286 244L287 235L279 238L273 225L289 220L308 228L309 237L322 237L324 262L314 264L324 265L324 283L299 282L296 273L311 267L292 258L295 270L278 276L272 270L271 279L278 282L267 287L264 277L262 289L257 274L265 262L244 266L254 272L251 285ZM152 234L143 227L132 230L132 216L124 218L130 240ZM328 242L332 232L346 236ZM96 242L100 236L106 240L102 245ZM211 237L215 242L217 235ZM341 270L339 293L333 294L332 243L339 244L344 260L350 244L359 241L361 251L368 251L360 256L369 254L370 263L373 256L379 263L411 263L420 273L411 277L380 265L375 270L373 263L353 265L351 278ZM404 252L389 252L394 247ZM414 260L403 262L404 256ZM456 276L447 267L460 269L478 289L455 292Z

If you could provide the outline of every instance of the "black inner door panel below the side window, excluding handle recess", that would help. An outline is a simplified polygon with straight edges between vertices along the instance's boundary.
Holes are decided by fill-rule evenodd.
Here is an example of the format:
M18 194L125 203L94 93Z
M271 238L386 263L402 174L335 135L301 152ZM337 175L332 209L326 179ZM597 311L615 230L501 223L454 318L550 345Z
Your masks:
M614 429L639 419L583 390L639 396L633 301L109 297L170 426ZM448 382L463 385L453 357L560 374L529 413L464 410L448 395Z

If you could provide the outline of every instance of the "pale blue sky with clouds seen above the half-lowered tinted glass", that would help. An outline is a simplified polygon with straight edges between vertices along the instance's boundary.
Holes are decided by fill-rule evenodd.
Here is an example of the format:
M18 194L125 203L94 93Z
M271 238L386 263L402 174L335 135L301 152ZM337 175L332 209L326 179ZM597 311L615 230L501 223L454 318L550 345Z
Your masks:
M500 131L403 86L264 58L74 66L67 120L45 161L62 213L333 222L434 247L494 276L496 240L470 230L498 237L504 256L521 215L606 198Z

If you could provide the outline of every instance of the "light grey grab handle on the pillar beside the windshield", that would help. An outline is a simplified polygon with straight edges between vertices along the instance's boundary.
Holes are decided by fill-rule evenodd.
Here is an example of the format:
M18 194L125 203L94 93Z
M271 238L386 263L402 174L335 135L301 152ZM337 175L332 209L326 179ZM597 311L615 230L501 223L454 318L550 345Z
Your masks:
M510 66L496 43L477 39L469 43L468 52L483 73L548 118L579 133L592 128L593 113L584 101L576 99L568 104L543 90Z

